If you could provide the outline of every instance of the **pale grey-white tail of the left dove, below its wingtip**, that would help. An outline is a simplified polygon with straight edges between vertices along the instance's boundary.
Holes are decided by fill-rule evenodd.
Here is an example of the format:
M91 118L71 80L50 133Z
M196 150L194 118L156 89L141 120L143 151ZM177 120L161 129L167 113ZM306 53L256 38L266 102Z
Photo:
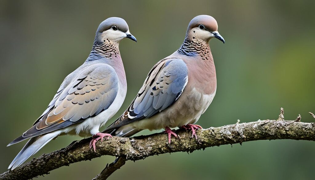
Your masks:
M14 158L14 160L9 165L8 169L13 170L17 166L21 165L24 161L26 161L31 155L37 153L39 149L43 148L49 141L58 136L59 133L53 132L41 136L32 137L22 148L18 155Z

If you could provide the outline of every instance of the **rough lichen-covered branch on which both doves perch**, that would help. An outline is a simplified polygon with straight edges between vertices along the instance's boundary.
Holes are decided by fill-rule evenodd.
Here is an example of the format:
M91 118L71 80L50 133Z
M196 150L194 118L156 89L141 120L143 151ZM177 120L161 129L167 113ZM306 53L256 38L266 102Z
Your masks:
M298 119L300 120L300 118ZM91 138L83 139L73 142L66 148L50 154L43 154L13 171L6 171L0 175L0 179L30 179L48 174L49 171L59 167L83 160L91 160L102 155L123 156L126 160L135 161L157 154L180 151L192 152L212 146L256 140L294 139L315 141L315 124L296 120L285 121L280 114L278 120L258 120L256 122L202 129L197 131L198 140L192 138L191 132L182 129L177 130L176 133L180 138L172 137L171 144L167 142L167 135L164 133L134 138L113 137L103 142L97 142L96 153L89 149ZM121 166L124 162L120 163ZM109 166L118 167L115 164ZM118 168L112 169L116 170ZM106 168L103 171L113 172L106 170Z

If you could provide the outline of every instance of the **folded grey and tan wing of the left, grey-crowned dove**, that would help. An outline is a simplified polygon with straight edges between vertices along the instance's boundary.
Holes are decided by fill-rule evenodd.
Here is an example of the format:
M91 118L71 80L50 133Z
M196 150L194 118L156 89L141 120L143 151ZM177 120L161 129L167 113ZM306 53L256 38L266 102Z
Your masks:
M24 139L68 127L106 110L117 96L119 79L107 64L86 67L54 97L51 109L22 136L9 145ZM52 103L51 102L51 103ZM49 106L49 107L50 107Z

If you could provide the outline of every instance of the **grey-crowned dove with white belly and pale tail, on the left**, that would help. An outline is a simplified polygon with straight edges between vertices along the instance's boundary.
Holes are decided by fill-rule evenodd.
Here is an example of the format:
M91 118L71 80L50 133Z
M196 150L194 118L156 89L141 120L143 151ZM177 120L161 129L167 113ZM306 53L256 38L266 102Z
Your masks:
M33 126L8 144L29 139L9 165L21 165L49 141L60 135L92 135L90 148L110 134L100 133L100 126L117 113L127 93L127 81L119 42L129 38L128 24L118 17L100 23L87 60L70 73L60 85L48 108Z

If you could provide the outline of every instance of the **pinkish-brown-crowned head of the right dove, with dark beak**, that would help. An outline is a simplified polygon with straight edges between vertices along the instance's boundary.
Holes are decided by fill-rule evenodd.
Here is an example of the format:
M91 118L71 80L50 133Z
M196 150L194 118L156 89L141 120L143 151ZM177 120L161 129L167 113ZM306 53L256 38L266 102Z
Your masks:
M199 15L194 17L188 25L186 38L207 42L211 38L217 38L225 43L224 38L218 32L217 21L209 15Z

